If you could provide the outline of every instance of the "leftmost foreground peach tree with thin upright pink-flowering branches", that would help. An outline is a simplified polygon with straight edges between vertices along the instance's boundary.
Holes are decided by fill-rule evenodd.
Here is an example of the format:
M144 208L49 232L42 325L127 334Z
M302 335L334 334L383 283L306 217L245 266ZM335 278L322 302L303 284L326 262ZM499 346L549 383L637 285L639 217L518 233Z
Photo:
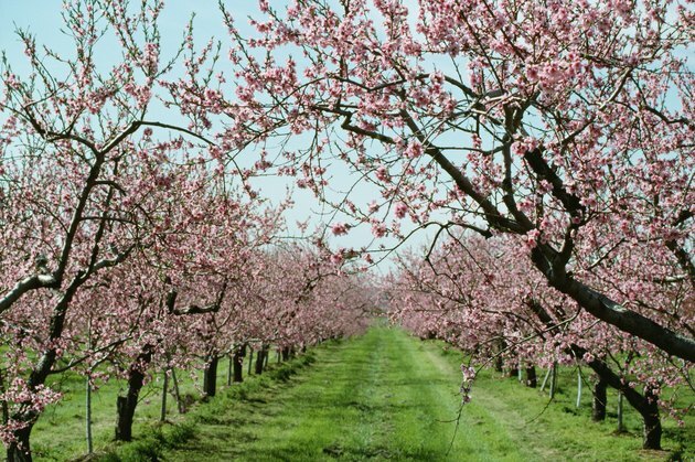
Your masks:
M159 57L162 7L67 2L67 54L19 31L28 71L3 62L1 432L9 460L31 460L33 423L58 398L49 376L87 361L75 350L84 345L74 327L82 316L107 315L95 303L107 275L171 230L168 190L181 184L177 161L185 163L182 153L196 146L186 128L148 119L156 82L172 66ZM108 34L118 44L114 64L97 56ZM109 336L99 352L129 336Z

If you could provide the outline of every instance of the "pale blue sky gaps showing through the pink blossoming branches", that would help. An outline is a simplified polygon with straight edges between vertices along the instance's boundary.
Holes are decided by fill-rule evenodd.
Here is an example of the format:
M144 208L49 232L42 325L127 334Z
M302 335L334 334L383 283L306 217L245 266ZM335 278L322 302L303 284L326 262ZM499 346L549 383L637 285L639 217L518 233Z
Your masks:
M272 2L276 7L281 7L285 2ZM234 1L227 2L227 8L235 17L236 25L243 33L254 33L255 30L248 24L248 15L257 13L257 6L255 1ZM23 44L15 34L17 29L29 31L36 39L39 46L47 45L58 53L65 53L70 56L73 51L71 50L71 40L61 32L64 29L63 20L61 17L62 2L61 1L43 1L43 0L26 0L26 1L11 1L0 0L0 50L2 50L8 58L12 68L20 73L26 73L29 69L29 63L23 53ZM222 15L220 13L217 1L215 0L199 0L199 1L184 1L184 0L170 0L165 3L161 20L160 32L162 37L162 56L164 60L173 57L179 45L181 44L184 29L190 21L192 14L194 14L194 36L195 46L200 49L207 43L209 40L222 41L221 60L218 62L218 69L224 69L227 62L228 50L228 35L223 24ZM103 39L104 43L100 43L100 50L108 50L109 46L114 46L114 37L106 36ZM292 56L295 60L301 63L300 56ZM117 55L109 55L108 52L104 52L104 55L97 56L97 65L99 62L104 65L111 65L109 58L117 58ZM446 66L446 63L440 63ZM438 64L439 65L439 64ZM150 118L159 118L162 121L172 122L172 118L178 117L171 111L167 111L161 107L152 107L150 110ZM268 146L267 150L269 158L272 159L280 153L280 149L292 150L296 147L293 143L301 143L301 136L295 138L284 147ZM272 152L275 149L276 152ZM374 143L374 149L381 149L377 143ZM250 151L250 150L249 150ZM242 165L250 165L258 160L256 152L242 152L237 158L237 161ZM379 201L381 195L376 187L368 184L365 181L360 181L359 175L352 175L346 171L346 168L332 169L334 176L331 184L328 186L327 194L331 194L331 200L340 202L344 197L344 193L351 190L350 197L360 207L365 207L366 204L372 201ZM307 233L312 233L316 229L325 233L327 238L332 247L339 248L362 248L368 247L370 249L377 249L379 245L389 248L398 243L397 239L383 238L374 240L368 226L356 226L351 228L344 236L333 236L330 232L330 226L335 223L351 224L350 219L342 216L340 212L335 212L331 206L321 204L308 190L299 190L295 186L295 180L287 176L268 175L265 178L257 178L252 181L254 187L258 189L263 197L268 197L272 203L278 204L285 200L288 195L288 191L293 191L292 198L295 206L286 213L288 235L298 236L301 234L298 227L298 223L307 223ZM356 186L355 186L356 184ZM393 211L392 213L393 214ZM434 217L434 219L437 219ZM403 232L408 234L413 224L405 219L403 221ZM417 248L428 245L428 240L435 234L434 228L426 230L419 230L408 238L404 247ZM377 253L374 255L374 259L378 260L384 253ZM391 262L384 261L377 266L382 270L391 268Z

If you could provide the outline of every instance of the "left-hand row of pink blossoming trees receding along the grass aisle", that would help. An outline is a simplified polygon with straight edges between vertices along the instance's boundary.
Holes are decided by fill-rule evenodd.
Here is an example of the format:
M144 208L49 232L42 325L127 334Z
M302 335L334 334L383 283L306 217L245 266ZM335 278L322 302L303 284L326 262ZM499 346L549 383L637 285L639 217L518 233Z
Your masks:
M248 346L287 355L359 332L371 308L368 281L321 239L282 239L285 203L256 197L188 128L145 119L160 72L152 47L130 41L156 34L153 8L129 22L117 6L73 3L75 61L51 54L49 71L22 35L31 75L3 71L0 433L11 461L31 460L61 374L127 380L114 415L116 439L130 440L152 373L214 377L220 357ZM106 73L99 25L122 34L122 62Z

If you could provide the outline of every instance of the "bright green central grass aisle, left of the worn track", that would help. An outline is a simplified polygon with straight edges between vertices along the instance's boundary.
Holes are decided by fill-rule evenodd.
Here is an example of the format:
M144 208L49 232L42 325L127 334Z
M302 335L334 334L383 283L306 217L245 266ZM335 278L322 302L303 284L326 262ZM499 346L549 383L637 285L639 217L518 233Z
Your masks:
M512 441L503 422L481 419L475 404L467 407L447 454L459 377L456 362L437 345L373 327L319 348L317 362L289 384L220 409L185 450L165 460L539 459Z

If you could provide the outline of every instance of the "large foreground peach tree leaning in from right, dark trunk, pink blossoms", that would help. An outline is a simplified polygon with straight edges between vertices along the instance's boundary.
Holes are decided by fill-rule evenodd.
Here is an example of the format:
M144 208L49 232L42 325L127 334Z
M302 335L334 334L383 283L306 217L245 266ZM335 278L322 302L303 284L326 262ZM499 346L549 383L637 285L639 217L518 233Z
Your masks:
M188 114L225 123L225 149L292 138L284 172L323 198L332 166L355 172L379 187L377 203L330 202L353 217L350 227L364 223L376 237L399 236L403 219L426 226L442 215L442 229L522 236L524 258L553 288L695 361L682 323L591 282L618 279L618 254L648 247L657 261L642 261L640 277L692 289L693 77L684 56L694 18L684 2L408 9L310 0L259 9L253 36L223 10L234 83L203 92L192 72L171 86ZM678 316L692 318L692 308Z

